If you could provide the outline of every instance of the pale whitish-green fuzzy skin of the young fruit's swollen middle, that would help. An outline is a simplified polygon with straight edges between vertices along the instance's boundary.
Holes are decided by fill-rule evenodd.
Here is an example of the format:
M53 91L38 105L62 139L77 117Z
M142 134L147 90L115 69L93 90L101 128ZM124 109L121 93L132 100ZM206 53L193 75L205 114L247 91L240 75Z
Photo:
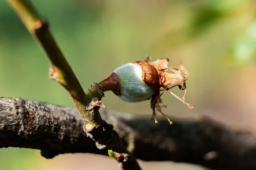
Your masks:
M142 102L151 98L154 90L142 79L142 69L134 63L121 65L113 71L119 79L120 94L118 97L125 102Z

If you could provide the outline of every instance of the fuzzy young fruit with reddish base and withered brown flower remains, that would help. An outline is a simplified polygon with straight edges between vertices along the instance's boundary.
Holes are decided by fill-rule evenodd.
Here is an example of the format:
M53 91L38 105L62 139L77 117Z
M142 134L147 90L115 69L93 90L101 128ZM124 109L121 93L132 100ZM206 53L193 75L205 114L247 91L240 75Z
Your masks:
M180 68L168 67L169 59L157 59L154 62L148 62L150 57L145 57L144 61L130 62L116 68L110 77L98 83L102 91L113 91L121 100L125 102L141 102L151 98L151 108L157 123L155 108L162 113L160 106L160 96L164 91L168 91L189 108L193 108L189 103L185 102L186 80L187 76L183 76L181 71L188 73L183 65ZM168 73L172 71L174 73ZM180 85L183 83L183 86ZM167 85L173 85L170 88L178 86L180 90L185 90L182 99L173 94ZM160 94L160 88L164 88ZM163 113L162 113L163 114ZM165 116L163 114L163 116ZM167 116L165 116L166 119ZM169 119L168 119L169 120ZM169 120L170 124L172 122Z

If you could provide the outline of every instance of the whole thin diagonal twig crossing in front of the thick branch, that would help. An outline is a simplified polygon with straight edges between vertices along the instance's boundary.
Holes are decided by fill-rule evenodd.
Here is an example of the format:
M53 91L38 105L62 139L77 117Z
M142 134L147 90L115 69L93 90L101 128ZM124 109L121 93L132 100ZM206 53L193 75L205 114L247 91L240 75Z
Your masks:
M88 90L87 95L84 93L78 79L52 37L49 31L49 24L37 14L29 0L7 1L47 53L51 61L49 75L66 89L67 94L84 121L84 131L87 132L87 135L99 143L99 148L106 147L119 153L129 154L118 134L113 131L113 126L103 121L99 114L99 98L104 96L104 93L100 88L97 88L97 84L94 83L91 86L90 89L93 91ZM87 106L90 107L87 108ZM133 156L129 161L133 165L130 169L140 170L139 164Z

